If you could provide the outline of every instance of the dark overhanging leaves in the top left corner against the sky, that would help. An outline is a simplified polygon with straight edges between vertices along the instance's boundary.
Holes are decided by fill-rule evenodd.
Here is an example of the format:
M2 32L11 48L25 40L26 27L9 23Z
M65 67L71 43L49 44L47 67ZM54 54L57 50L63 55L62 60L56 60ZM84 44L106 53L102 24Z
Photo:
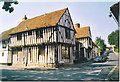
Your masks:
M13 3L16 5L16 4L18 4L18 1L15 1L15 0L5 0L2 9L5 9L5 11L9 11L9 13L13 12L14 8L11 7L11 5Z

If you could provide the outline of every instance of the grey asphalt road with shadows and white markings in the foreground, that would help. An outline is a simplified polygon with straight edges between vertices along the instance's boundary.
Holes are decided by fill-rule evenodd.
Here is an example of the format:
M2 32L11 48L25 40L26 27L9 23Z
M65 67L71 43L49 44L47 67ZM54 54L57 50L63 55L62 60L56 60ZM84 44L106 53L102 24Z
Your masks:
M102 63L91 63L86 66L62 70L33 71L33 70L8 70L2 69L3 81L33 81L33 80L105 80L110 71L118 64L118 57L114 53L109 54L109 59Z

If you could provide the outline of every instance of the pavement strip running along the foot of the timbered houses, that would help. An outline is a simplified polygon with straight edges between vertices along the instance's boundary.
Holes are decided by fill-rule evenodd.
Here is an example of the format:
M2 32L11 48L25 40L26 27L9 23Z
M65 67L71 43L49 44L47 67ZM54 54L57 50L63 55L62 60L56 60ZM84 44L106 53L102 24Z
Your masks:
M64 66L64 67L60 67L60 68L49 68L49 67L38 67L38 66L8 66L8 65L0 65L0 69L14 69L14 70L39 70L39 71L47 71L47 70L62 70L62 69L72 69L72 68L76 68L78 66L85 66L87 64L92 63L93 60L89 60L88 62L84 62L84 63L79 63L79 64L72 64L70 66Z

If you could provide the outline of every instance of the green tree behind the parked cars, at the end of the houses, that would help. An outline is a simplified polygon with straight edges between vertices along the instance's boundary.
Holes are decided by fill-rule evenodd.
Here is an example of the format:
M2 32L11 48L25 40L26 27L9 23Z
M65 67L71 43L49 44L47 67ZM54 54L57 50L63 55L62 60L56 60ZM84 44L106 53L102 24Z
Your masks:
M101 37L96 37L95 44L98 46L98 53L103 54L103 52L106 49L106 44L105 44L104 40L101 39Z

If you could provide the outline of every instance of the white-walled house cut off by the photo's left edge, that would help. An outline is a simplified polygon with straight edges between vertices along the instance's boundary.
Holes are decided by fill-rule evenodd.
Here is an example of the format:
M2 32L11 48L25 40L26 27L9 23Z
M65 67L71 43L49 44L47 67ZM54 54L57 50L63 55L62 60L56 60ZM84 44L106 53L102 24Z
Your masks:
M9 33L13 30L9 29L0 34L0 64L10 65L11 60L11 51L9 48L10 35Z

